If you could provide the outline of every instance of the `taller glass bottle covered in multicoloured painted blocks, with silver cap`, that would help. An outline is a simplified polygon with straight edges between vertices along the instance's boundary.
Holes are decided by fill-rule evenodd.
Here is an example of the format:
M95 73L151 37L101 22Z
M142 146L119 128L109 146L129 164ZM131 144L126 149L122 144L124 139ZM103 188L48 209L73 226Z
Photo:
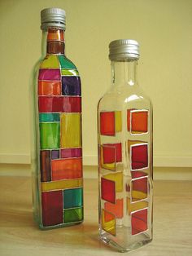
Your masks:
M41 11L41 59L30 87L33 213L41 229L83 221L81 80L64 53L65 11Z

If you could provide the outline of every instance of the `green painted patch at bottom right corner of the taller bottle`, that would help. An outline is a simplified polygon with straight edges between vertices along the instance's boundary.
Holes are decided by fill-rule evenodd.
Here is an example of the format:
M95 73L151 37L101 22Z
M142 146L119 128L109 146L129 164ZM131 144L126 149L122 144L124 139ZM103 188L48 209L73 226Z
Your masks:
M83 208L64 210L63 223L73 223L83 220Z

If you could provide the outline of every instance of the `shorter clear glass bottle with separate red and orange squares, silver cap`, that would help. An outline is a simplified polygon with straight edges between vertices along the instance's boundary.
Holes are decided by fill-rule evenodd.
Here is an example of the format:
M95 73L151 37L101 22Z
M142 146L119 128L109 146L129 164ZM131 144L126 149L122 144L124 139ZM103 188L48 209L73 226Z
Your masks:
M98 103L99 235L123 252L152 240L152 106L137 83L138 43L109 48L111 88Z

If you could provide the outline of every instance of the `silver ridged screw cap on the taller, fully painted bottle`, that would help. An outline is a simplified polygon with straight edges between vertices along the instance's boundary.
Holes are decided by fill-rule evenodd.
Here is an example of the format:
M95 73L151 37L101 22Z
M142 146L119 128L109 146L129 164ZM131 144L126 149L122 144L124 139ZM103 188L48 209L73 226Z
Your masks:
M59 8L46 8L41 11L41 29L56 27L65 30L65 11Z

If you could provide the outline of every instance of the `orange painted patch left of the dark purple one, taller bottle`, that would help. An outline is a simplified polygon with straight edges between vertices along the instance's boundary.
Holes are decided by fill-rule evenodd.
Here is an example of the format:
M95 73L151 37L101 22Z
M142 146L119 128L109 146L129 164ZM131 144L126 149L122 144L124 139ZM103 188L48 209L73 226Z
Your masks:
M38 95L61 95L61 82L39 81Z

